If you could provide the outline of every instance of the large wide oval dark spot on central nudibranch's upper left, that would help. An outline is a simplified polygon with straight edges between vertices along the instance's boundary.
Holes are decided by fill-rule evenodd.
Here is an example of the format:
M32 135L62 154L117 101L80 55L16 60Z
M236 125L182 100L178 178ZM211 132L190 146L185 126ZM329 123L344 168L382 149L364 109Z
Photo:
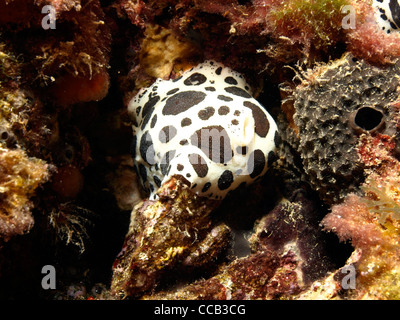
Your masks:
M163 115L177 115L189 110L206 98L206 94L201 91L178 92L167 99L162 110Z

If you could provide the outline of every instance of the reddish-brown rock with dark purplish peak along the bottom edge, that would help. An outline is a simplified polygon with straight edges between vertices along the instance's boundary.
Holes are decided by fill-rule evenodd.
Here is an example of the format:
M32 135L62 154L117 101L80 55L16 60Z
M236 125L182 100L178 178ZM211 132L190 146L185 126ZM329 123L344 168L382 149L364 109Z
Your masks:
M334 270L319 206L299 189L291 201L278 204L255 226L252 252L220 267L219 272L174 291L143 299L290 299Z

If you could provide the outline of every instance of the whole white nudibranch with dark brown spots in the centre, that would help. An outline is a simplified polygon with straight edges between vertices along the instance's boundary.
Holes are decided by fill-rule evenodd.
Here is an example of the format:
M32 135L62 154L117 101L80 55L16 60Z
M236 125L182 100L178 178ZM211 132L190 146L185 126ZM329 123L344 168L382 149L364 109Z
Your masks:
M273 118L243 76L206 61L174 80L156 80L128 106L132 153L150 199L173 175L222 200L265 174L279 141Z

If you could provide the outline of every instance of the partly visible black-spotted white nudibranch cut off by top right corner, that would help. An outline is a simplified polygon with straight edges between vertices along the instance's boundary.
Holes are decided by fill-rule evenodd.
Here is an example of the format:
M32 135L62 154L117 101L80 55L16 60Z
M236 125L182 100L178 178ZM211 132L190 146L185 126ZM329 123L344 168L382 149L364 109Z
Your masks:
M391 33L400 30L400 4L398 0L373 0L379 27Z

